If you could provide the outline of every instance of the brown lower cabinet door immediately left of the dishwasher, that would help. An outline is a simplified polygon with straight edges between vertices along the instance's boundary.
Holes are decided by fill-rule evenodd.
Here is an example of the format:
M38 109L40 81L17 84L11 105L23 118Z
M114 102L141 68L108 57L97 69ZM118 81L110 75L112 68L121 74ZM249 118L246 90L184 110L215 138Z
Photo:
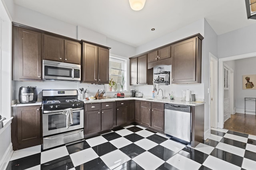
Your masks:
M152 128L164 131L164 110L151 109Z

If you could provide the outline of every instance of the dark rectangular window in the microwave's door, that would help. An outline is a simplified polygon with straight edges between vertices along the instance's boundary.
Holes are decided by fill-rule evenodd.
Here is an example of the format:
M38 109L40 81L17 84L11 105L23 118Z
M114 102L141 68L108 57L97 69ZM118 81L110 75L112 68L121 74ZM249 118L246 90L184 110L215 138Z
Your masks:
M44 66L45 76L55 76L55 77L71 77L72 78L72 68L55 67L55 66Z

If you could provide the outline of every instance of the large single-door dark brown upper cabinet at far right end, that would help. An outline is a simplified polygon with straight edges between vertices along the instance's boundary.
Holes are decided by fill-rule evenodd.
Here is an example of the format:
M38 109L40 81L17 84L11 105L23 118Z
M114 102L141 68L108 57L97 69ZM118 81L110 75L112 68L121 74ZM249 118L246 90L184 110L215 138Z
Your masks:
M172 45L172 84L201 83L202 38Z

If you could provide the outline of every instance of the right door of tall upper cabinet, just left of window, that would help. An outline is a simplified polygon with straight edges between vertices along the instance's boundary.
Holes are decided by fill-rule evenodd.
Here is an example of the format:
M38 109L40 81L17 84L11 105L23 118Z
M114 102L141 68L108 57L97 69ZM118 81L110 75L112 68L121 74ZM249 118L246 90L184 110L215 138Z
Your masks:
M98 47L98 82L109 83L109 49Z

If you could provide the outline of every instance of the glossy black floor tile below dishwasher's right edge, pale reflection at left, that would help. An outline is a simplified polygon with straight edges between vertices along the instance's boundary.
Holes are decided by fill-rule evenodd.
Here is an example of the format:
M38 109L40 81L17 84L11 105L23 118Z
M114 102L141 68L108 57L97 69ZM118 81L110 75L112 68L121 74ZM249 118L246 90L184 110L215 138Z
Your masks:
M190 147L184 147L182 150L180 150L180 152L178 152L178 154L190 158L191 160L194 160L200 164L203 164L206 158L209 156L208 154L205 154Z

